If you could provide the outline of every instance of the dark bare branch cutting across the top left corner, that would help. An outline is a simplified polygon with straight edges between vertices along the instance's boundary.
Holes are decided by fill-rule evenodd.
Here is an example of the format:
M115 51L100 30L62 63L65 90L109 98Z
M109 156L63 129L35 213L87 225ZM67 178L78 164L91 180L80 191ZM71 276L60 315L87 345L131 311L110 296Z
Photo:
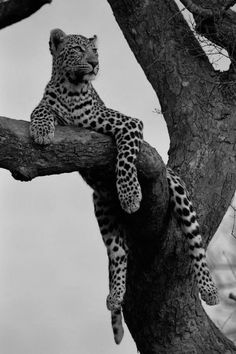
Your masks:
M0 1L0 29L21 21L52 0L8 0Z

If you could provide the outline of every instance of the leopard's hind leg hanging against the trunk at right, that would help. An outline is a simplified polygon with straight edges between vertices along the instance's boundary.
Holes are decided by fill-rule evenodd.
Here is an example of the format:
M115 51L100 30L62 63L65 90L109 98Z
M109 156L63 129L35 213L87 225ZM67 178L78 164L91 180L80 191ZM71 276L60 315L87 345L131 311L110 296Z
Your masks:
M208 305L216 305L219 303L218 291L207 266L196 212L189 200L185 183L170 168L167 168L167 181L171 206L189 243L189 254L201 298Z

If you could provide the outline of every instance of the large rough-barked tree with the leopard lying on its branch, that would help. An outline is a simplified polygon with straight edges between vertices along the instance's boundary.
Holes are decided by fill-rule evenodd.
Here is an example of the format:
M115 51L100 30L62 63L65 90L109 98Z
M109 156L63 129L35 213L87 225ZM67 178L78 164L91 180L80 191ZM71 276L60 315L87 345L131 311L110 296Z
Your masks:
M169 165L194 196L207 245L236 185L235 14L229 9L235 1L182 1L193 13L197 31L227 50L231 65L224 73L214 70L173 0L108 2L160 100L171 141ZM79 170L89 184L99 179L109 185L117 203L111 139L65 127L58 128L53 145L42 148L32 145L28 123L2 118L0 124L0 167L14 178ZM170 218L165 166L146 143L138 170L140 210L125 215L117 206L130 248L124 316L138 350L236 352L201 307L186 244Z

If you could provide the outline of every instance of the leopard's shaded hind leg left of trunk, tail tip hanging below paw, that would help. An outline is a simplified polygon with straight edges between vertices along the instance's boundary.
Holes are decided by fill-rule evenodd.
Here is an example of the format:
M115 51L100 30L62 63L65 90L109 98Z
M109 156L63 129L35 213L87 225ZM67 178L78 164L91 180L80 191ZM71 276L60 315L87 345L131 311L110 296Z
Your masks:
M121 223L104 195L97 191L93 194L95 215L107 248L109 259L109 289L107 308L111 311L114 339L119 344L123 338L121 307L126 290L126 269L128 248Z

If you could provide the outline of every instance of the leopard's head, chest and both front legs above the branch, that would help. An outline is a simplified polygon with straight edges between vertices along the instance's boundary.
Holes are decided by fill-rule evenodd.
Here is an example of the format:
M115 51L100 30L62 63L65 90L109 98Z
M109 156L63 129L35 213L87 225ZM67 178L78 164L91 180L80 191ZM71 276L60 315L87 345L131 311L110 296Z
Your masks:
M142 199L135 166L143 124L107 108L91 84L98 72L96 37L51 32L53 57L51 80L44 96L31 114L30 134L42 145L53 141L55 125L76 125L115 138L117 192L122 208L135 212Z

